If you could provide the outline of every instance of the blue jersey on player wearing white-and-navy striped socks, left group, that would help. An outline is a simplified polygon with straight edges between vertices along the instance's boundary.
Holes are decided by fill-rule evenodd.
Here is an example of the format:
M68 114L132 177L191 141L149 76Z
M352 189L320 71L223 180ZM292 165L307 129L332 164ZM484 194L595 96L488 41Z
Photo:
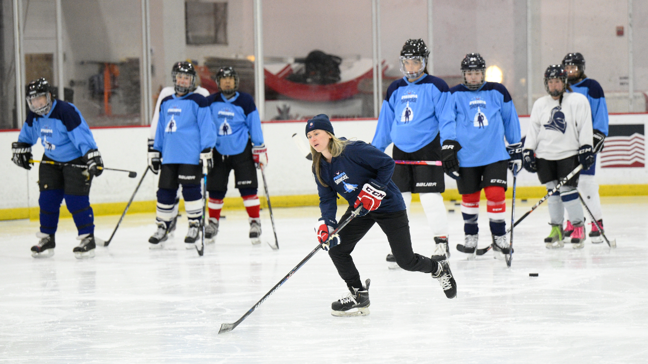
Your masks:
M162 152L163 165L198 165L200 152L214 144L216 127L204 96L174 94L162 100L153 148Z

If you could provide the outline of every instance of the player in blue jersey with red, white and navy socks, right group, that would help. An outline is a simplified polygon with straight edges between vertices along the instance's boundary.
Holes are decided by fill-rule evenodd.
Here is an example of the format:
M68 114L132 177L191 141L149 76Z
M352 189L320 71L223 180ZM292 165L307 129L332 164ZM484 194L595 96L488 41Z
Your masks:
M482 189L487 199L493 252L500 258L500 252L510 253L504 222L506 170L507 166L518 171L522 168L520 120L513 100L504 85L485 82L485 71L486 62L479 53L466 54L461 61L463 84L450 89L452 112L456 117L443 138L443 145L450 145L456 151L449 153L449 157L459 164L461 178L457 179L457 188L464 221L463 253L467 253L469 259L474 259L477 250ZM445 126L441 128L445 130ZM504 137L508 146L504 144Z

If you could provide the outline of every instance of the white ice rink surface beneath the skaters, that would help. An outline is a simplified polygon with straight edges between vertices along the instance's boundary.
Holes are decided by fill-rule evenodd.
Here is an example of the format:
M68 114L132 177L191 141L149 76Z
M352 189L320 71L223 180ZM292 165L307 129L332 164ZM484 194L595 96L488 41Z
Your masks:
M516 215L533 203L518 201ZM491 238L481 205L483 247ZM616 249L589 240L581 250L546 249L541 206L516 227L510 269L491 252L465 260L454 248L463 243L459 206L446 207L455 210L456 299L446 299L428 274L388 269L389 245L374 227L353 255L362 280L371 279L370 315L330 315L330 303L347 290L321 251L221 335L220 324L237 321L316 247L318 208L275 209L279 251L251 245L245 212L226 211L203 257L183 246L185 218L166 249L150 251L154 215L128 215L110 247L88 260L72 253L71 219L61 221L56 255L47 259L30 256L38 222L1 222L0 362L648 362L648 198L603 198ZM410 215L414 251L429 256L434 244L421 205ZM107 239L118 218L98 217L95 234ZM262 218L270 240L267 210Z

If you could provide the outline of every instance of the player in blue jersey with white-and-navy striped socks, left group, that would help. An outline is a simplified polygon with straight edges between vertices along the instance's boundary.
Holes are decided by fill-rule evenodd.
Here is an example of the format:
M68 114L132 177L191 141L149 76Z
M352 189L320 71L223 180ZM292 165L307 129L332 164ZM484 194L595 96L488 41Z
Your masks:
M191 92L195 88L196 70L189 62L178 62L172 69L176 93L160 103L159 122L152 152L151 170L160 170L157 188L157 231L148 239L152 249L163 247L170 224L178 185L182 185L189 231L185 247L193 249L200 230L203 200L200 190L202 165L213 165L212 148L216 128L207 100ZM177 212L176 212L177 214Z

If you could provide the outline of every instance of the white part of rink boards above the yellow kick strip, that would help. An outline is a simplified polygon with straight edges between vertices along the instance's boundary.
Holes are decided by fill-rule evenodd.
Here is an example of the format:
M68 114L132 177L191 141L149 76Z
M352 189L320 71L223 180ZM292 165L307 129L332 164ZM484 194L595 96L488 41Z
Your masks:
M522 134L526 133L528 118L521 118ZM648 130L648 114L610 115L610 124L644 124ZM266 168L268 190L271 196L316 194L317 188L310 174L310 161L300 154L292 141L292 135L304 136L305 122L272 122L264 123L264 139L268 146L269 164ZM333 122L336 135L356 138L371 142L376 128L376 120L354 120ZM135 170L137 178L130 179L125 173L105 171L93 181L90 194L92 203L128 201L141 173L146 169L146 139L148 128L110 128L93 129L98 148L102 153L104 164L112 168ZM11 161L11 149L8 146L17 140L17 131L0 132L0 186L3 186L0 197L0 209L33 207L38 205L38 166L27 172ZM391 155L391 146L386 151ZM41 158L43 148L34 146L34 157ZM605 168L597 169L597 181L601 185L643 184L648 181L646 168ZM259 176L259 183L261 183ZM518 175L518 185L538 186L537 176L526 171ZM262 194L261 185L259 186ZM156 199L157 176L147 174L137 192L135 200ZM446 188L456 188L454 180L446 177ZM228 197L238 197L238 190L230 178Z

